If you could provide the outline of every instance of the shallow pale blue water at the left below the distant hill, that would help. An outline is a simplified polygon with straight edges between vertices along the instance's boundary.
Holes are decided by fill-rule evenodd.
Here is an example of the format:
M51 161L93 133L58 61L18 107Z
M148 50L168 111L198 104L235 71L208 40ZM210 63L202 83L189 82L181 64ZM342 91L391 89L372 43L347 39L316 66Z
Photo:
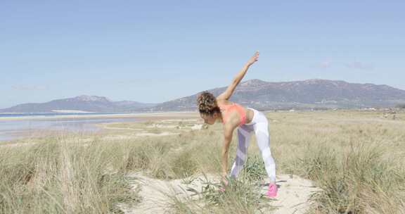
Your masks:
M17 139L34 132L61 130L69 132L97 132L98 123L136 122L139 118L103 118L103 115L117 113L35 113L35 114L0 114L0 118L25 116L50 116L49 118L32 118L24 120L0 120L0 141ZM120 113L122 114L122 113ZM55 115L100 115L97 118L53 118Z

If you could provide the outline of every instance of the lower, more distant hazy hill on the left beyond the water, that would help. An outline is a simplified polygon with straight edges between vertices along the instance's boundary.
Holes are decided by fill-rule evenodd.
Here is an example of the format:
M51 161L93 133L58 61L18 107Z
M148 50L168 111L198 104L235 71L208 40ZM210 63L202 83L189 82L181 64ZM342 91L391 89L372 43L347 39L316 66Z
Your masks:
M128 112L153 107L155 104L136 101L110 101L104 96L76 96L46 103L25 103L0 109L7 113L48 113L53 111Z

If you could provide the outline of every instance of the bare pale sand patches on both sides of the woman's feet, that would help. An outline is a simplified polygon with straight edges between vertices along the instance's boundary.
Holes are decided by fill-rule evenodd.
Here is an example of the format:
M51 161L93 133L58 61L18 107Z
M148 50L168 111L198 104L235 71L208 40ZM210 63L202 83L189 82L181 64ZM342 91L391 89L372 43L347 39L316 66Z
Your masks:
M156 180L146 177L139 173L134 173L130 177L135 178L135 182L131 184L134 189L141 187L139 195L142 197L141 203L134 208L121 206L126 214L145 213L145 214L162 214L171 213L168 205L169 200L167 195L179 196L179 199L185 199L193 194L191 191L186 191L187 187L200 190L203 187L203 181L206 179L201 176L197 177L191 184L184 184L182 180ZM218 178L208 175L208 180L218 182ZM278 196L276 201L269 200L271 206L277 210L269 211L274 214L302 214L309 209L309 196L314 191L319 191L314 187L311 181L304 180L296 175L279 175L277 177L279 185ZM266 192L266 187L262 188L262 194Z

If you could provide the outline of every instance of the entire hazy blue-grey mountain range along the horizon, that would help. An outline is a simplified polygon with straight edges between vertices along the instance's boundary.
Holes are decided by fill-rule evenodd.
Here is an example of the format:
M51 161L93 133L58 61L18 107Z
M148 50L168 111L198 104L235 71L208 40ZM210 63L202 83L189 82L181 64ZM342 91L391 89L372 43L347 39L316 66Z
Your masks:
M225 90L226 87L219 87L207 91L217 96ZM164 103L110 101L103 96L82 95L47 103L20 104L1 109L0 112L44 113L60 110L91 112L195 111L198 94ZM342 80L311 79L293 82L248 80L240 82L230 100L259 110L389 108L405 103L405 90L385 84L359 84Z

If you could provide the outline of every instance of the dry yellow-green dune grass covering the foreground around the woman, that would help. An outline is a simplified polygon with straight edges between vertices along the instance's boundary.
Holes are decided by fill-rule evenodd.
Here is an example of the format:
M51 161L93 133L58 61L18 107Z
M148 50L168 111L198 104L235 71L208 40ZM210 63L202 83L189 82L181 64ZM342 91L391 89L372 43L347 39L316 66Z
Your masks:
M297 176L319 189L302 213L404 212L404 112L394 118L381 111L266 116L278 181ZM266 173L255 139L242 175L221 192L220 124L203 127L193 119L102 126L99 134L60 133L0 146L0 213L139 213L134 210L146 200L142 177L188 188L186 195L162 193L165 213L280 209L280 201L262 195ZM233 141L230 163L236 136Z

